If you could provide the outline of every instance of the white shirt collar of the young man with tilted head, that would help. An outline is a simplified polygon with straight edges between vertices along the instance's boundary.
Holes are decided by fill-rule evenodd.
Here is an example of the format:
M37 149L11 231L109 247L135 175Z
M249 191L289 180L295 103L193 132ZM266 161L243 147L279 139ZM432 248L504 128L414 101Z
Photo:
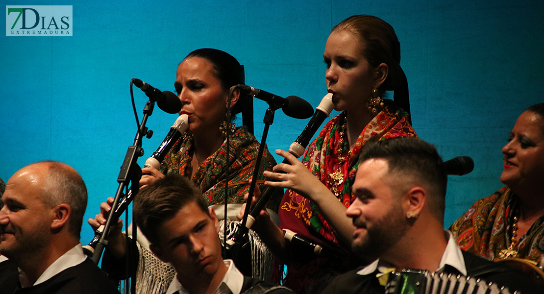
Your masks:
M228 269L225 273L225 276L221 280L221 283L213 293L240 294L240 292L242 291L242 285L244 284L244 275L238 270L238 268L236 268L232 259L225 259L223 262L225 262L225 266L227 266ZM176 277L174 277L174 280L172 280L172 283L170 283L170 286L168 286L166 294L174 294L176 292L179 292L180 294L189 294L189 292L187 292L187 290L181 285L180 281L177 279L177 273Z

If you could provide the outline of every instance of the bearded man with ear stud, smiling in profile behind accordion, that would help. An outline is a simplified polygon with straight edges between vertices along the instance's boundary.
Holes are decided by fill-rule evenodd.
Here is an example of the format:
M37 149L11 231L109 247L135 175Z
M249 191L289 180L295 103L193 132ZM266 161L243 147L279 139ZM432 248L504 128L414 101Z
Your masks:
M447 174L434 146L414 137L367 143L346 214L356 227L353 251L369 265L338 276L323 291L380 293L391 271L470 276L510 292L541 293L511 268L462 252L444 230Z

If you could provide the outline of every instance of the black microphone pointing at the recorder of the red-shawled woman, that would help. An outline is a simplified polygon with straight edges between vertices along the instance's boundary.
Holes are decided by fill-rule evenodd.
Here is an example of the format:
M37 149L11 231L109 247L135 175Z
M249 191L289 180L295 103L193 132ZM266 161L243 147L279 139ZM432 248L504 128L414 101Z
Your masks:
M267 102L271 108L281 108L283 113L287 116L304 119L313 114L312 105L300 97L288 96L287 98L282 98L261 89L256 89L252 86L243 84L237 85L237 87L240 91Z

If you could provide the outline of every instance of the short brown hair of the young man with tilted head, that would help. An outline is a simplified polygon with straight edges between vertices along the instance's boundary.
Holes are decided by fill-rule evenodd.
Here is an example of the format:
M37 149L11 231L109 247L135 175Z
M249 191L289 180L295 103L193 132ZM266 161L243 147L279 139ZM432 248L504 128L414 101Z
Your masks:
M209 215L202 192L192 182L179 174L167 174L141 189L134 198L134 221L147 240L156 245L159 226L191 202Z

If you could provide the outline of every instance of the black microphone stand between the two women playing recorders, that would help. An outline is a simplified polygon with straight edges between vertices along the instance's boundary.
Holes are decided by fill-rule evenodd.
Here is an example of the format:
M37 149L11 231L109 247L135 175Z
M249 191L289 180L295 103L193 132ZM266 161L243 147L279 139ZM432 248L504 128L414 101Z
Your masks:
M245 205L244 217L242 218L242 223L238 226L238 231L236 232L236 235L234 235L234 244L231 246L232 260L234 261L234 264L236 264L240 258L243 237L245 234L249 232L249 229L246 227L245 224L246 222L248 222L248 215L251 209L251 199L253 198L255 185L257 184L259 168L261 167L261 160L263 158L263 152L264 152L264 143L267 140L268 129L270 128L270 125L274 122L275 111L278 109L277 107L273 107L271 103L268 103L268 106L269 108L264 114L263 136L261 138L261 145L259 145L259 152L257 154L257 159L255 160L255 169L253 171L253 176L251 177L251 184L249 186L248 201L246 202L246 205Z

